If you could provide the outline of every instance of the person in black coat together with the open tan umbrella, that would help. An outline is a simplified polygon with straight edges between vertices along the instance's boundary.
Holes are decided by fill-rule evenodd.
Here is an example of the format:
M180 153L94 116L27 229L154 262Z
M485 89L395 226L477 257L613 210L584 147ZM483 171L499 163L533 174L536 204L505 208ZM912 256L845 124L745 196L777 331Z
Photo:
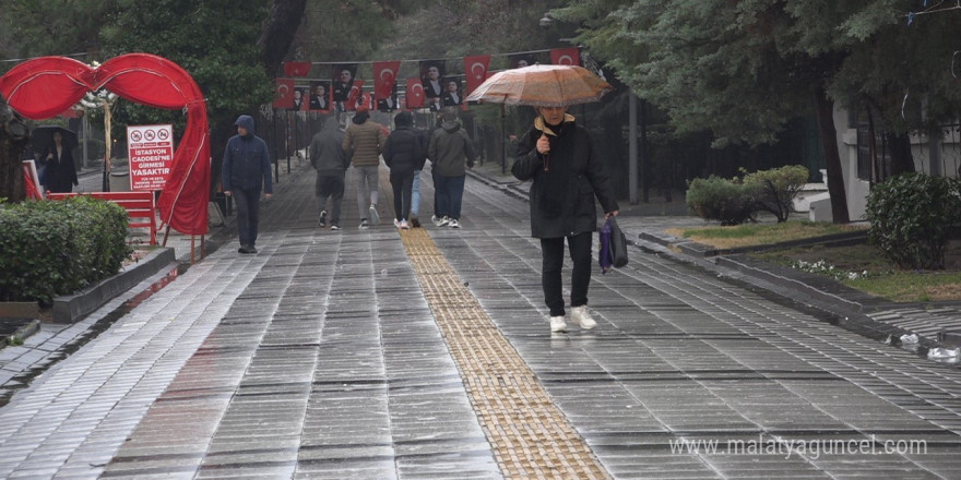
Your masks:
M588 313L591 248L597 229L594 199L605 217L618 214L610 177L588 130L574 122L567 107L594 101L612 86L586 69L573 65L532 65L495 74L467 100L530 105L534 124L519 141L511 172L531 185L531 236L541 240L541 285L549 310L550 331L566 332L561 284L563 243L573 262L571 320L581 328L597 323Z

